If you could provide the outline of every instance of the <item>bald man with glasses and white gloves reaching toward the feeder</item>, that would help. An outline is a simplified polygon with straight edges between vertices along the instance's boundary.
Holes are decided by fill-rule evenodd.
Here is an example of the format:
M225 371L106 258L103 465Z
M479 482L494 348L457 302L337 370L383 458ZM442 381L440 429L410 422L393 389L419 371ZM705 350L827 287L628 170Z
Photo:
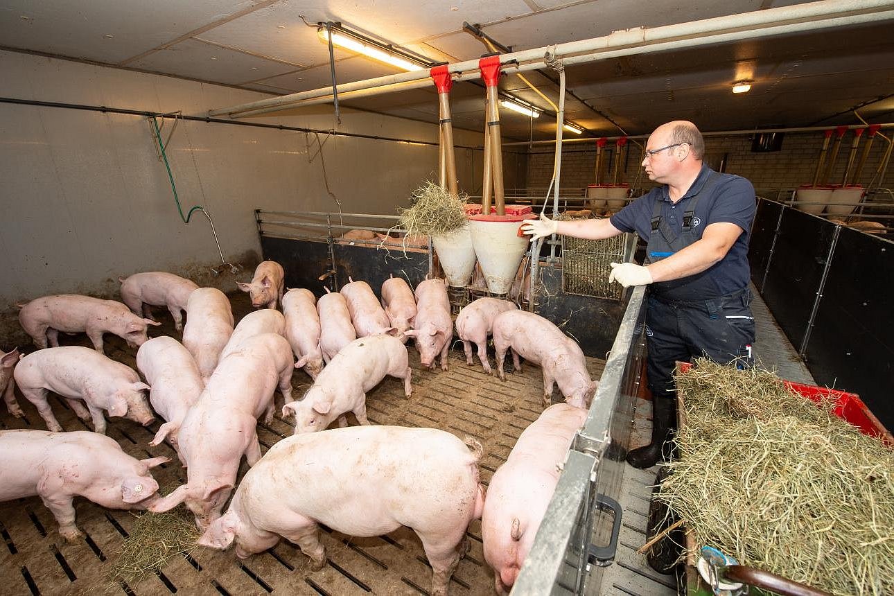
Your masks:
M643 167L661 184L607 219L525 220L532 240L553 233L603 239L636 231L648 242L644 265L612 263L609 281L651 284L645 315L646 372L653 396L652 442L628 453L631 466L654 466L674 426L677 360L707 356L751 365L755 320L748 290L748 231L755 189L744 178L703 164L704 139L692 122L659 126Z

